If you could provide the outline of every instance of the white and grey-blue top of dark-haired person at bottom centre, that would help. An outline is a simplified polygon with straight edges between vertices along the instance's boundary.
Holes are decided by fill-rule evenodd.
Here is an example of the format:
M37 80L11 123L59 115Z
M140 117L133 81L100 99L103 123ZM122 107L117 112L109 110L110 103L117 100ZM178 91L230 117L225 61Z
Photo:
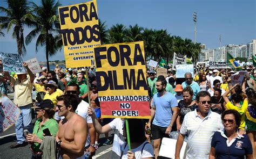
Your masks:
M144 148L143 148L143 146L144 146ZM124 144L122 149L124 151L122 159L128 158L128 156L127 156L127 151L129 150L128 144ZM153 146L148 141L145 141L142 144L140 144L139 147L137 147L135 149L132 149L132 152L134 153L134 156L135 156L136 159L146 158L146 157L154 157Z

